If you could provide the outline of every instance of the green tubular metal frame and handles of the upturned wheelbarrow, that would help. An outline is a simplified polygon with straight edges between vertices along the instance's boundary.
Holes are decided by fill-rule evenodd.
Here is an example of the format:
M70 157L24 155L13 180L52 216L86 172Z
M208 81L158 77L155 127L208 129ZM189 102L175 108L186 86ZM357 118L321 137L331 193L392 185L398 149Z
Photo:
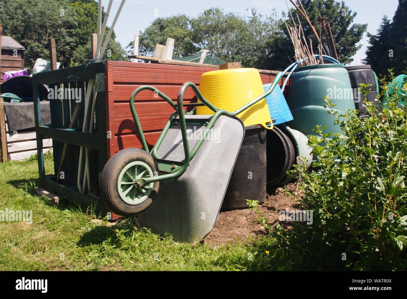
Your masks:
M131 114L133 115L133 120L134 120L134 123L136 124L138 134L140 136L143 150L146 151L147 153L149 153L149 148L147 146L147 142L144 137L143 130L141 128L140 120L138 119L138 116L137 116L136 108L134 107L134 98L136 98L137 94L139 92L141 92L142 90L145 90L145 89L151 90L155 94L158 94L158 96L160 96L162 99L166 100L168 102L168 104L170 104L171 107L173 107L173 109L175 111L174 111L174 113L171 114L170 118L166 122L166 125L165 125L164 129L162 130L162 133L160 134L160 137L158 138L157 142L155 143L155 145L153 146L153 149L151 151L151 155L156 160L160 172L167 172L167 173L163 174L163 175L154 176L154 177L140 178L140 179L135 180L135 183L137 183L139 186L144 186L145 184L153 183L156 181L174 179L176 177L181 176L185 172L186 168L188 167L190 160L193 159L193 157L196 155L197 151L199 150L199 147L204 142L204 138L205 138L204 136L206 136L209 133L210 129L212 129L212 127L214 126L214 124L217 121L217 119L219 118L219 116L221 116L221 115L237 116L241 112L245 111L252 105L256 104L257 102L259 102L260 100L262 100L263 98L265 98L266 96L271 94L271 92L273 92L274 88L278 84L278 81L280 81L281 77L282 77L282 72L278 72L278 74L276 75L276 78L274 79L273 83L271 84L271 86L267 92L265 92L261 96L258 96L257 98L250 101L249 103L247 103L246 105L237 109L234 112L226 111L224 109L219 109L219 108L215 107L214 105L212 105L208 100L206 100L206 98L204 98L204 96L202 96L201 92L199 92L198 87L192 82L184 83L181 86L181 88L179 89L178 97L177 97L177 105L175 105L173 100L168 98L168 96L166 96L165 94L160 92L160 90L158 90L157 88L155 88L153 86L143 85L143 86L138 87L131 94L130 110L131 110ZM188 87L191 87L191 89L193 90L193 92L195 93L197 98L201 101L201 103L190 103L190 104L183 103L184 102L184 93ZM210 108L212 111L214 111L214 115L210 118L209 122L206 123L204 132L197 140L197 143L193 147L192 151L190 151L188 138L187 138L185 115L193 114L194 110L196 109L197 106L204 106L204 105L207 106L208 108ZM184 107L191 107L191 106L193 106L194 109L190 112L186 112ZM182 162L160 159L160 157L158 157L158 153L157 153L158 148L160 147L162 141L164 140L166 133L168 132L168 129L170 128L171 124L173 124L173 122L177 116L179 116L179 124L181 127L182 143L183 143L184 155L185 155L184 156L185 159Z

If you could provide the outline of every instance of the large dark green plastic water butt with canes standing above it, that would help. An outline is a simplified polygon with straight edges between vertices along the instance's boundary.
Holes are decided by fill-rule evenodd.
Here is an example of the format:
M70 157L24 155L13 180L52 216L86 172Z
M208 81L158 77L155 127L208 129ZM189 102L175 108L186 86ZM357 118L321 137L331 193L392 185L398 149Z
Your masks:
M336 104L334 108L339 115L346 112L345 108L355 109L353 90L344 65L319 64L297 68L291 76L288 100L294 119L287 122L287 126L305 135L317 135L312 131L317 125L327 126L325 133L342 133L339 125L334 124L335 116L323 106L325 96Z

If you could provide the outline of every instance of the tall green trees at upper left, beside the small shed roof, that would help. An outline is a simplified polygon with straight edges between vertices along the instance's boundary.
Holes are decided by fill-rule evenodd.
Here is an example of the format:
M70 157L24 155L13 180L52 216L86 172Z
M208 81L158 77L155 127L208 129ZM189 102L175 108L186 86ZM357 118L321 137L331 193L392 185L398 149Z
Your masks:
M48 38L55 38L57 61L68 67L72 57L84 63L90 57L90 34L96 32L97 3L94 0L13 0L0 2L3 34L26 48L24 60L33 67L37 58L49 59ZM106 29L108 30L108 28ZM114 34L111 39L114 40ZM112 56L122 57L120 44L112 45ZM124 56L124 58L126 58Z

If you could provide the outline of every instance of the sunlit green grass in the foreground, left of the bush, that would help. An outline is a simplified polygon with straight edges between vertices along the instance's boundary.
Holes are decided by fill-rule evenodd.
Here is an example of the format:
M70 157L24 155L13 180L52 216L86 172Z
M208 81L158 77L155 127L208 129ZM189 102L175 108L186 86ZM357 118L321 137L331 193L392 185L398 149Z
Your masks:
M45 155L53 169L52 154ZM37 161L0 163L0 210L32 210L33 223L0 222L0 271L160 270L240 271L270 269L250 244L208 248L180 244L137 228L132 218L110 227L61 200L34 193ZM259 256L259 255L258 255Z

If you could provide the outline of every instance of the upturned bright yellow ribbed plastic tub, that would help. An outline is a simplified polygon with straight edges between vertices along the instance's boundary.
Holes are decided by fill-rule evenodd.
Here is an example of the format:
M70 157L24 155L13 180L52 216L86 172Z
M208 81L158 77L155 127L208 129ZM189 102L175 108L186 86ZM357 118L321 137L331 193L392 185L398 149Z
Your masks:
M212 105L230 112L236 111L264 94L260 74L255 68L235 68L204 73L201 76L199 91ZM206 106L198 106L196 114L213 115L214 112ZM238 114L237 117L245 126L260 124L266 129L273 129L265 98Z

